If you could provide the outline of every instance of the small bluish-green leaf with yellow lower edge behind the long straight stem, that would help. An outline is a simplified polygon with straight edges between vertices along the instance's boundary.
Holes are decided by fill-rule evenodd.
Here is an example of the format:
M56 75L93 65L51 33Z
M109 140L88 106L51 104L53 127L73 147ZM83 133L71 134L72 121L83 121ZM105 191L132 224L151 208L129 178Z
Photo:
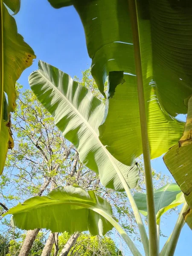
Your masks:
M137 207L144 216L147 216L147 200L145 193L136 192L134 200ZM154 191L154 204L157 224L160 223L160 217L169 209L174 208L185 202L183 192L181 192L177 183L167 184Z

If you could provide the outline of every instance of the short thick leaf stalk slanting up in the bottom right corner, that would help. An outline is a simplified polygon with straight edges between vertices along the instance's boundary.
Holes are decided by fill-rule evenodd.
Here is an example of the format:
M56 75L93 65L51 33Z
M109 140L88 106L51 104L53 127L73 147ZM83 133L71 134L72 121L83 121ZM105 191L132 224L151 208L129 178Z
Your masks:
M177 222L175 224L174 230L169 239L169 243L167 246L165 256L173 256L175 253L175 248L177 246L177 241L179 239L180 232L185 224L185 220L183 218L183 212L186 212L187 209L189 209L189 206L187 203L185 203L180 211L180 214L179 214L179 217L177 218Z

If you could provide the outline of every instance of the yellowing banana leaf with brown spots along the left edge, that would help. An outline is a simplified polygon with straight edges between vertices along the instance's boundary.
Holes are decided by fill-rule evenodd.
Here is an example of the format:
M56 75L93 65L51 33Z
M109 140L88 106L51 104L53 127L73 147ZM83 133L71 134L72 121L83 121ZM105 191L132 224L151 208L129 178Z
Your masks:
M32 48L17 33L15 19L5 5L17 14L20 0L0 0L0 174L3 172L8 148L14 146L10 112L16 107L15 82L35 58Z

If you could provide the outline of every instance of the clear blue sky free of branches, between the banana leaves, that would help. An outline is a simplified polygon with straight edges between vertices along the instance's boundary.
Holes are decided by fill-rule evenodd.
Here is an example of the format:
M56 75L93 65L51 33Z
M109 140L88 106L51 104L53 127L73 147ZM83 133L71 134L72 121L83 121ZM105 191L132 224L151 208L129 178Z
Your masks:
M29 88L28 76L38 68L38 60L43 60L68 73L81 78L81 70L90 67L91 60L87 54L84 30L78 14L73 7L53 9L47 0L21 0L20 12L15 16L18 32L34 49L37 59L23 72L19 82ZM152 161L158 172L170 175L162 158ZM171 175L170 175L171 176ZM163 218L161 230L164 235L171 233L177 215ZM183 227L175 256L192 255L191 230ZM161 247L166 239L161 238Z

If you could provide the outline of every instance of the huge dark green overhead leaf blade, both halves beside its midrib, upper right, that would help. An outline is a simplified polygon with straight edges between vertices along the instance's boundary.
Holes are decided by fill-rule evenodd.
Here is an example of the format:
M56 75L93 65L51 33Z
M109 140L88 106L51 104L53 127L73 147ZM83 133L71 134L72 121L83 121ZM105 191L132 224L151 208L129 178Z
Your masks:
M55 6L58 1L49 2ZM148 135L154 158L175 145L184 128L172 116L186 113L183 99L192 93L192 4L137 2ZM101 92L111 72L119 71L119 77L124 73L120 83L115 84L113 79L109 83L108 115L100 139L114 157L130 165L142 154L142 145L128 1L71 3L81 17L92 75ZM60 0L60 6L66 6L66 1Z

